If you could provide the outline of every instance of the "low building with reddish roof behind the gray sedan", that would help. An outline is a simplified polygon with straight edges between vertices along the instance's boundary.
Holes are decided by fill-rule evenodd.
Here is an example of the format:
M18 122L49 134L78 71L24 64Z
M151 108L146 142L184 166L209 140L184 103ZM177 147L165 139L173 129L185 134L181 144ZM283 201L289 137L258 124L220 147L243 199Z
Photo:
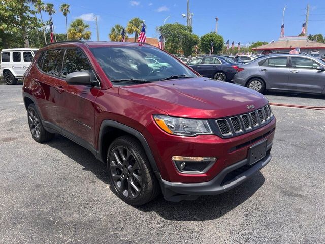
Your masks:
M310 53L319 51L320 55L325 54L325 43L310 41L307 36L298 37L280 37L278 41L266 45L253 48L257 54L269 54L272 52L291 51L296 47L300 47L301 52Z

